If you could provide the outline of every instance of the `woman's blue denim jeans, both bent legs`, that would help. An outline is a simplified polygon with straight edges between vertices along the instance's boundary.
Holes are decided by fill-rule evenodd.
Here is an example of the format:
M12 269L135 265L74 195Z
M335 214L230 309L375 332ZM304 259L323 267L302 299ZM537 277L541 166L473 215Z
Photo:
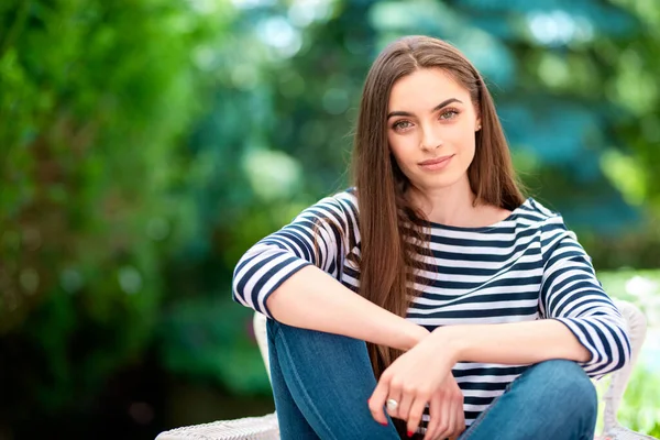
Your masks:
M372 418L376 387L366 344L268 319L268 355L282 440L399 439L391 419ZM592 440L596 392L572 361L529 367L460 440Z

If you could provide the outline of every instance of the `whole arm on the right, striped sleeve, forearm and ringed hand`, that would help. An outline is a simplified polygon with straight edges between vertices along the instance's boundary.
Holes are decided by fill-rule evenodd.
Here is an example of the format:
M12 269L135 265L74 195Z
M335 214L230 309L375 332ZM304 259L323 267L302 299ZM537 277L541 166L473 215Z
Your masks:
M578 362L592 377L628 362L625 321L596 279L591 258L560 217L543 224L540 242L541 319L437 328L381 375L370 400L375 420L383 419L388 396L405 396L404 400L414 402L404 417L408 429L415 431L426 404L432 406L433 393L461 361L532 364L566 359Z

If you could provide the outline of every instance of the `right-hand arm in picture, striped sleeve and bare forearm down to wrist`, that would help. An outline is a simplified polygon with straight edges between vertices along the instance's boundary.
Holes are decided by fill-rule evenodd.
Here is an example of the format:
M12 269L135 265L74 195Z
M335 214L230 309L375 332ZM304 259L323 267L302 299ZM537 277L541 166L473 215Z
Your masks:
M539 315L543 319L443 327L433 331L433 339L448 346L457 362L524 364L568 359L593 377L624 366L630 358L624 319L561 217L543 226L541 251Z

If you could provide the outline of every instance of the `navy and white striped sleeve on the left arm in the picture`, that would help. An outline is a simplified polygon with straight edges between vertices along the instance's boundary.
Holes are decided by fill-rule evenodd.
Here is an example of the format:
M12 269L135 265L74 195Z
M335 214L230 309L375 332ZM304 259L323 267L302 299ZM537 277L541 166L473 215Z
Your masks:
M266 307L268 296L302 267L316 265L339 279L349 235L354 238L356 231L355 212L354 197L340 193L261 240L234 268L233 299L273 318Z

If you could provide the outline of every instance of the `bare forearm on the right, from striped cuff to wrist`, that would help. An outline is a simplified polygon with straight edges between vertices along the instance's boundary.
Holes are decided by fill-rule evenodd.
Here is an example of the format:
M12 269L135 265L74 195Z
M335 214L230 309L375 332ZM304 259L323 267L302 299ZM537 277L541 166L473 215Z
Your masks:
M587 362L591 353L554 319L501 324L447 326L433 331L455 362L528 364L550 359Z

